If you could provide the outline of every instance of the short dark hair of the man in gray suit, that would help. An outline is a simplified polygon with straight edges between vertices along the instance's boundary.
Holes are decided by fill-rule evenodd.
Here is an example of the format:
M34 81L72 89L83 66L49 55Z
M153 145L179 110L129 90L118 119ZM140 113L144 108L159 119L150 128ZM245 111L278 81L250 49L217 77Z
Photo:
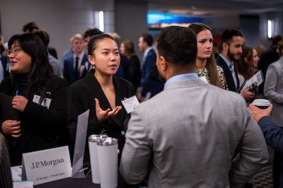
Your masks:
M163 28L157 40L158 55L177 66L195 64L197 38L190 28L171 26Z

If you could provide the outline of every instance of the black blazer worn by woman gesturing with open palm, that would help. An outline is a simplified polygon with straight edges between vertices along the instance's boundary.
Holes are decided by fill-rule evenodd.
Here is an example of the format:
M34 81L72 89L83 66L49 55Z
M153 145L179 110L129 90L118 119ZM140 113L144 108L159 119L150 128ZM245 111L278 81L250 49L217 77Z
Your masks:
M129 114L125 111L124 107L119 114L110 117L106 122L100 123L96 117L96 102L98 98L100 107L103 110L111 109L110 104L103 93L100 84L98 83L94 74L94 69L91 69L85 78L76 81L68 89L68 129L71 141L71 154L74 150L74 143L76 139L76 124L79 114L86 112L90 109L88 118L88 131L86 138L86 149L84 154L84 163L89 165L89 151L88 151L88 136L91 134L107 134L108 136L118 139L118 146L120 154L125 144L125 131L127 130L127 121ZM134 95L134 86L129 81L123 78L113 76L113 83L115 86L116 106L121 105L121 100L130 98ZM119 155L120 157L120 155Z

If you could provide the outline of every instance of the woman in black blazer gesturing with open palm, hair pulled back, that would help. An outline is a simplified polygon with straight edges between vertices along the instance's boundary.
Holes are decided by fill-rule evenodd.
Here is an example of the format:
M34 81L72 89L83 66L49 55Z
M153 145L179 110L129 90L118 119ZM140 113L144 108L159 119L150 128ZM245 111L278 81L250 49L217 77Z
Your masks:
M68 128L71 148L76 139L77 117L90 109L87 138L91 134L107 134L118 139L120 153L125 143L129 114L121 100L134 95L134 86L115 75L120 66L120 54L110 35L100 34L88 42L88 61L95 67L85 78L76 81L68 90ZM120 155L119 155L120 158ZM90 165L88 143L84 165Z

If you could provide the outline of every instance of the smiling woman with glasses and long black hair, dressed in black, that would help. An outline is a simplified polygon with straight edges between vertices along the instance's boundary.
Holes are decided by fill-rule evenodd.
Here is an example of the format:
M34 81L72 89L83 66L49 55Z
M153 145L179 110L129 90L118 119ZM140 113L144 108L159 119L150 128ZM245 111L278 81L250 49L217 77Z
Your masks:
M13 96L16 119L0 112L1 131L8 139L11 165L22 154L67 144L67 81L52 74L47 49L40 37L27 33L8 41L11 75L0 92Z

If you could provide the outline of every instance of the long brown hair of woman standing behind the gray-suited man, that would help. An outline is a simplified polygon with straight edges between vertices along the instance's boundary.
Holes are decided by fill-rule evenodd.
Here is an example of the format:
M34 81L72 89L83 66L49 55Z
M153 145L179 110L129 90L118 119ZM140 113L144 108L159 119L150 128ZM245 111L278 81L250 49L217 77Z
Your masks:
M195 33L195 35L200 33L202 30L209 30L212 33L212 28L209 28L209 26L205 25L204 23L191 23L189 26L187 26L187 28L190 28ZM207 58L206 67L210 83L214 86L218 86L219 88L223 88L219 80L214 54Z

